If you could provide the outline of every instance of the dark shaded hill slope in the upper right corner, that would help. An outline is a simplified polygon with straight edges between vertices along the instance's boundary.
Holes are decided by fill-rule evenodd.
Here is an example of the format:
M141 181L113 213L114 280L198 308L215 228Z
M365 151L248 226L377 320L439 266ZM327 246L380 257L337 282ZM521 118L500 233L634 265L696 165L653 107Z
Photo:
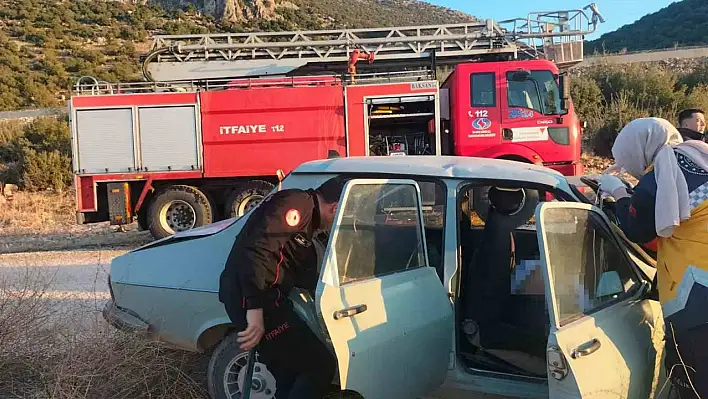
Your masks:
M708 45L708 1L677 1L585 44L586 54Z

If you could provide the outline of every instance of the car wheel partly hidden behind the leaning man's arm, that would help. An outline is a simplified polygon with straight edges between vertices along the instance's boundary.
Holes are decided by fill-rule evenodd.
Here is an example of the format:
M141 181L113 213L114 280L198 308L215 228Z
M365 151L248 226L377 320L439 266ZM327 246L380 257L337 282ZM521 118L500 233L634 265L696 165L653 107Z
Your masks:
M239 347L236 333L229 334L211 355L207 372L209 394L213 399L239 399L243 392L248 352ZM268 366L256 354L251 384L251 399L274 399L277 383Z

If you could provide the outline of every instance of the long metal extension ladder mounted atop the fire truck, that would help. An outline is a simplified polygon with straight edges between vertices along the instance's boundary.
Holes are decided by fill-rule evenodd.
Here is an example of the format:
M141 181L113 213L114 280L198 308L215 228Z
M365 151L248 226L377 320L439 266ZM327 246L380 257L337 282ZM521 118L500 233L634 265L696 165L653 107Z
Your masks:
M345 73L360 53L370 61L362 63L362 69L379 72L529 58L568 67L582 61L584 36L595 31L598 21L604 19L593 3L579 10L536 12L500 23L157 35L143 58L143 75L149 81L167 82Z

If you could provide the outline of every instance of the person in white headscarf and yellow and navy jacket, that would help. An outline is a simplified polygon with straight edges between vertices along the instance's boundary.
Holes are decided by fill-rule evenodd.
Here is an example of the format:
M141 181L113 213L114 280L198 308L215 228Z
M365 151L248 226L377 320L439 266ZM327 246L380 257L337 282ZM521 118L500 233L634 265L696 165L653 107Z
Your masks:
M598 180L617 201L619 227L637 244L658 244L667 372L682 399L708 399L708 144L640 118L620 131L612 155ZM639 180L631 195L610 174L618 170Z

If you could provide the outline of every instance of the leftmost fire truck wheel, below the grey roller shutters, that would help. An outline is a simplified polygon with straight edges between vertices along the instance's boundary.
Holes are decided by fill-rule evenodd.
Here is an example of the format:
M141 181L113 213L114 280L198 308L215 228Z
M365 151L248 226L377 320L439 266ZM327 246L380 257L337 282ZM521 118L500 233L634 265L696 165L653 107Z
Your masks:
M192 186L170 186L162 190L150 203L147 213L150 233L156 239L214 221L211 202Z

